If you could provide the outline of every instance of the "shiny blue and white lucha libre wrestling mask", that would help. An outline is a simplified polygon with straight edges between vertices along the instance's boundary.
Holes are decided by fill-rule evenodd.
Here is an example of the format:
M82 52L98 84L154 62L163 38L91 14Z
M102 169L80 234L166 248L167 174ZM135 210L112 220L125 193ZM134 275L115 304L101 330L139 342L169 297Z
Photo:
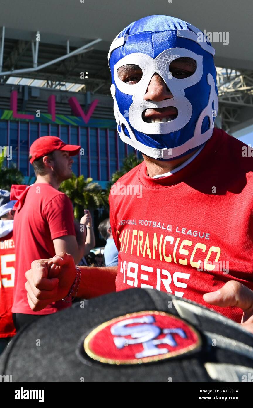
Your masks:
M108 61L117 130L123 142L149 157L170 160L204 144L213 133L218 111L214 48L191 24L168 16L149 16L129 24L113 40ZM188 78L174 78L170 63L188 57L196 70ZM134 64L142 70L139 82L120 80L118 69ZM157 73L173 98L144 100ZM148 122L144 112L174 107L177 115Z

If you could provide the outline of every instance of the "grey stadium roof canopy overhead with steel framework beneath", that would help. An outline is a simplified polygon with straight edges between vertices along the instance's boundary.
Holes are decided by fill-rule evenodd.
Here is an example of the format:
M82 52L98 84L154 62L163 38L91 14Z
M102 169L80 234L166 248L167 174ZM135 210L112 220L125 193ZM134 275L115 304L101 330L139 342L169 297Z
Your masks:
M230 70L222 80L222 103L242 108L246 113L241 120L252 117L252 0L0 0L0 10L0 36L1 27L5 27L0 82L77 92L110 94L107 53L111 41L144 16L166 14L202 31L222 32L228 44L213 42L216 66ZM40 41L36 41L37 34ZM41 65L44 67L38 69ZM27 71L29 68L32 70ZM19 73L19 69L24 71ZM226 81L231 80L231 72L233 80L237 79L237 70L243 78L237 80L235 93ZM2 76L1 71L7 74ZM81 72L84 78L80 78ZM247 100L240 99L245 90ZM235 113L230 116L234 118Z

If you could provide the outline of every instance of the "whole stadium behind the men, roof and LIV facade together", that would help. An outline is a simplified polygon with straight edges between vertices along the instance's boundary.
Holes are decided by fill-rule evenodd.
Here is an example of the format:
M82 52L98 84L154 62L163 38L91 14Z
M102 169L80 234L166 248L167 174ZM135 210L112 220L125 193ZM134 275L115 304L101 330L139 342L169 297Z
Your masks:
M226 10L225 21L222 13L207 18L205 4L199 4L198 16L190 4L184 4L183 9L177 2L168 5L161 0L157 5L144 0L138 4L129 9L116 0L92 5L81 0L70 7L68 0L60 4L45 0L36 2L35 10L35 3L29 0L13 0L2 8L0 147L12 149L12 160L6 164L15 164L27 177L26 182L32 182L34 176L28 150L37 137L54 135L67 143L81 144L83 155L75 157L74 173L92 177L102 186L120 168L123 158L134 151L116 133L107 53L122 28L157 13L158 6L160 14L181 16L206 31L222 27L223 32L211 33L218 67L216 125L236 137L253 132L248 16L243 14L246 35L246 31L228 31L233 7ZM238 21L240 18L239 14Z

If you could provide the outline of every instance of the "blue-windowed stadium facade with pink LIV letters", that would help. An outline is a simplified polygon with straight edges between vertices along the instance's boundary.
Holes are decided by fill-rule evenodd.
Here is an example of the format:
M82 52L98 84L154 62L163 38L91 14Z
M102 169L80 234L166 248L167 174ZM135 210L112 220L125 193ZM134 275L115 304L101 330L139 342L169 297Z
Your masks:
M31 80L22 78L20 82ZM1 146L11 147L12 160L6 160L6 165L15 164L26 180L34 176L28 161L29 146L41 136L58 136L65 143L80 144L81 154L74 157L72 165L74 173L92 177L102 186L126 155L136 153L118 137L110 96L21 83L0 84L0 140ZM4 109L8 99L9 109Z

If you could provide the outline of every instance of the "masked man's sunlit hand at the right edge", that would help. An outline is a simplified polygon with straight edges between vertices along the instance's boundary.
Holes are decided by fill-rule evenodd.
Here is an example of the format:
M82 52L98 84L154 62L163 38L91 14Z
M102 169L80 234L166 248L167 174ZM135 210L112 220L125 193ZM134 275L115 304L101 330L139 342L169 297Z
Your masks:
M242 326L253 333L253 290L237 281L229 281L216 292L203 295L205 302L221 306L237 306L242 309Z

